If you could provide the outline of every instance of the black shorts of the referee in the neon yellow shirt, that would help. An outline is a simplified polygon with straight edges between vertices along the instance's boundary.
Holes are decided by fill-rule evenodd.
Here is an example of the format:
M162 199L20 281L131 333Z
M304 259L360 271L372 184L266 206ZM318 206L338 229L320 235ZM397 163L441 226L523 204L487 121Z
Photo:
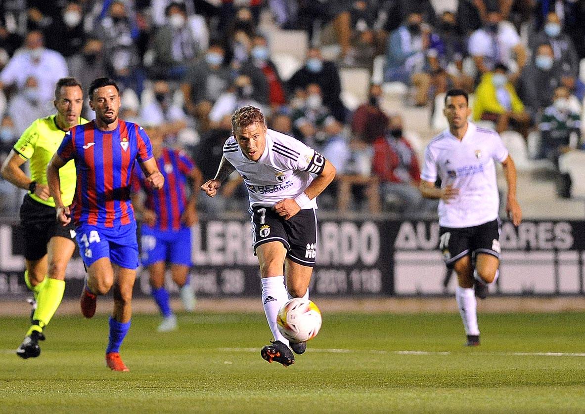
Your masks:
M61 236L75 243L73 220L62 226L57 222L57 210L33 200L26 194L20 206L20 231L25 243L26 260L39 260L47 254L47 243L54 236Z

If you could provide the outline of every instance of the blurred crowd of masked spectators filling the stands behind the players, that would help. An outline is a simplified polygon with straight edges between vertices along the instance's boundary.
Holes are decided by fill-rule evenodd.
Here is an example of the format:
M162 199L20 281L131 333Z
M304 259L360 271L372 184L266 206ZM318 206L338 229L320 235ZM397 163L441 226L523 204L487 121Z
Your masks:
M270 25L260 24L264 16ZM402 114L381 105L384 85L401 82L404 105L428 108L428 122L447 89L469 92L473 121L522 137L532 158L550 161L558 195L567 197L570 175L559 158L583 149L584 22L585 0L6 0L0 161L33 120L54 113L59 78L73 76L87 89L108 76L122 87L121 118L160 127L167 146L190 154L205 180L230 136L230 115L254 105L271 129L335 165L321 206L435 215L436 204L418 190L419 146ZM290 46L307 49L290 77L273 61L268 29L307 32L307 45ZM328 29L333 58L322 48ZM381 84L348 105L340 68L374 71L376 61ZM87 99L82 116L94 118ZM231 195L241 205L226 202ZM199 198L199 208L216 215L246 200L233 178L220 196ZM2 214L13 215L21 201L22 192L0 180Z

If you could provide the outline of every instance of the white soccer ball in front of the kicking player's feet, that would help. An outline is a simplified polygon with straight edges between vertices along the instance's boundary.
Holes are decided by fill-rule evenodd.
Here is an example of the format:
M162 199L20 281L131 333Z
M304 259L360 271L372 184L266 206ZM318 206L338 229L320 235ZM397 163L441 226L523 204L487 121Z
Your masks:
M276 322L280 333L289 341L308 341L321 329L321 310L309 299L294 298L278 310Z

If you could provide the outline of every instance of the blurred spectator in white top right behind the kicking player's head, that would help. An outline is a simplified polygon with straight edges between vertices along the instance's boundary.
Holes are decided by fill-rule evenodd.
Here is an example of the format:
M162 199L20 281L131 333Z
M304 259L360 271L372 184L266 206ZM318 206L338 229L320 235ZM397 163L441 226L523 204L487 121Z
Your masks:
M250 77L239 75L228 91L223 92L215 101L214 106L209 112L209 123L211 127L216 127L226 115L232 114L236 109L242 106L256 106L260 111L266 112L266 108L253 98L254 87Z

